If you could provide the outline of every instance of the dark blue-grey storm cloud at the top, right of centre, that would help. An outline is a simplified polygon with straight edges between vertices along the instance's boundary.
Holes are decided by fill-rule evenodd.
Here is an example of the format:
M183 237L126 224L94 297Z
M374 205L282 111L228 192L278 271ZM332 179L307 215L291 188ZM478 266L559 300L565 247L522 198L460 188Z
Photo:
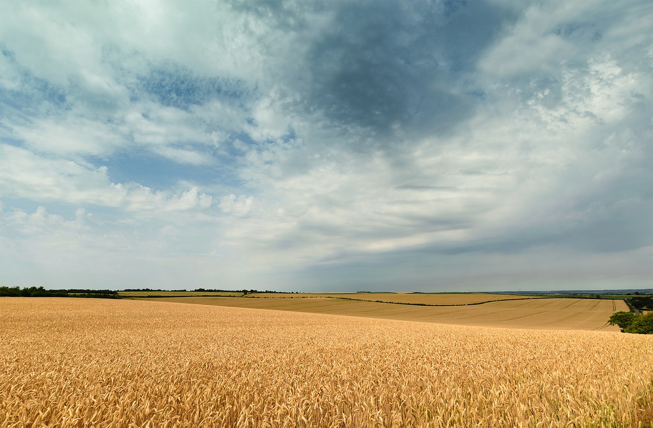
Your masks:
M483 1L325 8L334 9L333 25L298 65L306 69L300 107L324 115L330 126L362 129L380 141L399 129L412 136L445 132L468 118L477 98L471 94L481 91L473 82L467 82L470 95L453 87L515 19Z

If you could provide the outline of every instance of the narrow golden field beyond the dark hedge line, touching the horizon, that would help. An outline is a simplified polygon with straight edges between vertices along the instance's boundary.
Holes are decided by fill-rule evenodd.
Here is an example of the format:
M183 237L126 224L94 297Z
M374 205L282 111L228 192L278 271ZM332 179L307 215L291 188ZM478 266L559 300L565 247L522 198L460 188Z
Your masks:
M425 305L469 305L483 301L507 300L507 299L537 299L541 296L519 296L513 294L489 294L489 293L254 293L249 296L266 298L347 298L368 301L387 301L392 303L421 303Z

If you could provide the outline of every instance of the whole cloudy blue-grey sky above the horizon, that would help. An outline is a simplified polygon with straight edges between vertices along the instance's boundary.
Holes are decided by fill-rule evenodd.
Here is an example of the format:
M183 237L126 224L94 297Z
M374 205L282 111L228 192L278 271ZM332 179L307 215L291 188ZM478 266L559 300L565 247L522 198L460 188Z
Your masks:
M3 1L0 285L653 284L653 2Z

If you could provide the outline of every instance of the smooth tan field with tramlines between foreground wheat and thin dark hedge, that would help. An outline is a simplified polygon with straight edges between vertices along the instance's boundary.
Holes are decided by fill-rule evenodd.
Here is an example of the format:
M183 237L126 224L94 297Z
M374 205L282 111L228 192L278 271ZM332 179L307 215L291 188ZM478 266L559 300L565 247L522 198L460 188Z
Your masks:
M367 316L464 326L602 329L605 331L619 331L616 326L608 326L607 320L614 311L628 311L628 307L623 301L562 298L506 300L484 303L483 305L452 307L394 305L392 303L330 298L257 299L215 297L155 300L251 309Z

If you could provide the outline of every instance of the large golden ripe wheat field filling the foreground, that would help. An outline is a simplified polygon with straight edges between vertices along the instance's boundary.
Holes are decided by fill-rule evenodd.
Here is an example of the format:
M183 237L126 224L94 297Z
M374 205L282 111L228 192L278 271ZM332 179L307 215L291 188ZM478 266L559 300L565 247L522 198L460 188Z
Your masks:
M648 427L653 338L0 298L0 427Z

